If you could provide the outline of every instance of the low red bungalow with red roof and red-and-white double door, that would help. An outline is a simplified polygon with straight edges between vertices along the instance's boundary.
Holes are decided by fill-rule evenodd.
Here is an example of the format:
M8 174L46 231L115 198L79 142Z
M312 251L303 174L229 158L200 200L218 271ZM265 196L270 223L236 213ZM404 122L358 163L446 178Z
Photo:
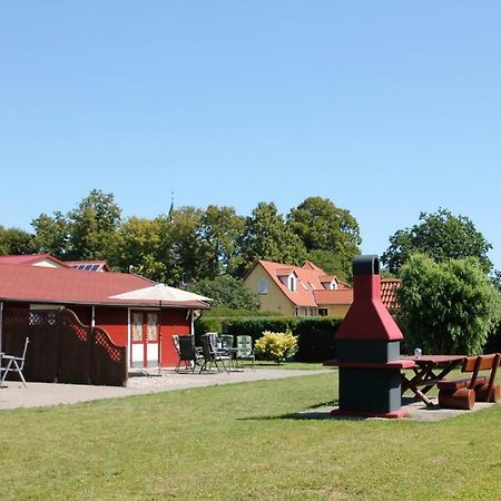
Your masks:
M99 330L109 336L110 345L124 347L128 367L175 366L173 335L193 333L197 312L209 305L199 301L112 297L154 284L137 275L107 272L102 267L79 269L47 255L1 256L0 351L16 351L17 333L22 331L26 336L31 332L28 355L37 351L39 356L50 358L52 355L43 352L42 341L50 334L40 333L40 318L43 315L46 318L47 312L56 314L65 310L76 317L72 328L77 335L85 328ZM47 328L50 330L50 322Z

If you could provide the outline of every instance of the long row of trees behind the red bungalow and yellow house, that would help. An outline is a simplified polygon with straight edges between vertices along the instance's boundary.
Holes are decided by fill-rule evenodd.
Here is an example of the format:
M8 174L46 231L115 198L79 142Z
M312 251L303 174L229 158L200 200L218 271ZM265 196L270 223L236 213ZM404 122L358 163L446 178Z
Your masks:
M121 217L112 194L92 189L67 214L40 214L33 234L0 226L1 254L49 253L66 261L106 259L174 286L242 278L256 261L303 265L307 259L350 279L358 225L327 198L310 197L287 217L261 202L247 217L234 207L170 207L153 219Z

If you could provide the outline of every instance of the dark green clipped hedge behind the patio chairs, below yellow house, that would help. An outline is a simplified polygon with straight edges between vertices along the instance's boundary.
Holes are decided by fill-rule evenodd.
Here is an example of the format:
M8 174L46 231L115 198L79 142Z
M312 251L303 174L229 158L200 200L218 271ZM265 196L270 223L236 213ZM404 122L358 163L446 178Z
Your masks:
M297 316L268 317L202 317L195 324L195 335L199 338L206 332L249 335L253 341L262 337L264 331L291 331L298 337L297 362L323 362L335 357L335 333L342 320L335 317L302 318ZM220 327L220 328L216 328Z

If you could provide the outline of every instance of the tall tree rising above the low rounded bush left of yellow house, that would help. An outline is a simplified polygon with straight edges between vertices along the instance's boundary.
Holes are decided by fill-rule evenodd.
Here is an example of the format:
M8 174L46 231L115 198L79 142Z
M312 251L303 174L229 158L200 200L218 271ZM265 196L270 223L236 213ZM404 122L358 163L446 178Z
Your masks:
M238 238L245 218L237 216L233 207L209 205L202 215L198 238L200 239L200 275L214 279L232 274L238 266Z

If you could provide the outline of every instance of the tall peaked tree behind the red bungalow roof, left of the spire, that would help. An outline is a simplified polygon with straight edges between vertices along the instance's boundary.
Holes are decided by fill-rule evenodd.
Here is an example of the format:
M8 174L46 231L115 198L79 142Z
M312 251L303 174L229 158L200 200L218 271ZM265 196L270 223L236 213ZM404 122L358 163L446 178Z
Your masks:
M68 214L70 222L68 258L107 259L115 245L121 209L112 194L92 189Z

